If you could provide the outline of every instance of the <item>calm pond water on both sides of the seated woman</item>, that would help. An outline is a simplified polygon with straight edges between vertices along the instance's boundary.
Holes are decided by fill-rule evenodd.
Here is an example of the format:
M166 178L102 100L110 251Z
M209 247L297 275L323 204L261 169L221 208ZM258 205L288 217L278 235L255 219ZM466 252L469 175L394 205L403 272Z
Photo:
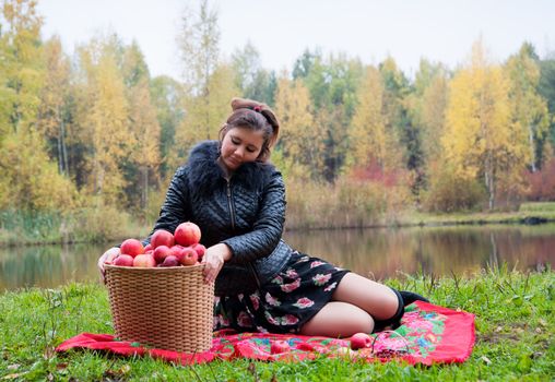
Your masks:
M376 279L400 273L472 274L501 266L543 270L555 262L555 224L287 231L295 249ZM108 244L0 249L0 291L98 280Z

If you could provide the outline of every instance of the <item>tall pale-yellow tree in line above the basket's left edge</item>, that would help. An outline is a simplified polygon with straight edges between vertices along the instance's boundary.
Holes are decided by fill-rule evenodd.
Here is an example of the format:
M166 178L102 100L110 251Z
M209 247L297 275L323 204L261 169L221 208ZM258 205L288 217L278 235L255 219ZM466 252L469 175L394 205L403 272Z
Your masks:
M128 180L121 165L135 145L129 124L121 62L121 45L117 36L97 38L79 49L82 70L76 123L84 147L90 193L108 204L125 200Z

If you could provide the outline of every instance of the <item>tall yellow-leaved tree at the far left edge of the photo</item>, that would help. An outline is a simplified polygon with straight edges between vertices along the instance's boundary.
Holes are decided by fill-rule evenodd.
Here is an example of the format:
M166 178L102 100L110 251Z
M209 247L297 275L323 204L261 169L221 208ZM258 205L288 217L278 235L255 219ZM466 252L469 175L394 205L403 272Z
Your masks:
M36 1L1 5L0 208L64 212L75 190L58 174L36 128L45 74Z

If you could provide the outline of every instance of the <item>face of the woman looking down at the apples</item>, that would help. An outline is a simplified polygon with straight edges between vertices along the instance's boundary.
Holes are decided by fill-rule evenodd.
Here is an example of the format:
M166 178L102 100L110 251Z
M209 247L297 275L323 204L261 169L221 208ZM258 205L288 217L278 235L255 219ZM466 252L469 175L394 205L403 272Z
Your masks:
M263 143L263 131L233 128L222 141L222 163L228 170L235 171L244 163L255 162L262 151Z

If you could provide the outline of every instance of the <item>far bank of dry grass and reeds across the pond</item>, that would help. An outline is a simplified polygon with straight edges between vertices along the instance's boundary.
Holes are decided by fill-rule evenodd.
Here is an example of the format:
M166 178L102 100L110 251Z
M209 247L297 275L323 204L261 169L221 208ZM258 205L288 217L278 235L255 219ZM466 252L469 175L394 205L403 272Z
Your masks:
M291 196L287 229L555 222L555 202L524 203L515 212L430 214L410 210L400 196L388 200L371 190L366 195L349 192L346 187L331 195L312 191L307 193L310 196L300 195L300 191ZM113 207L81 210L68 216L4 211L0 212L0 246L140 238L150 232L156 216L150 213L146 218L137 218Z

